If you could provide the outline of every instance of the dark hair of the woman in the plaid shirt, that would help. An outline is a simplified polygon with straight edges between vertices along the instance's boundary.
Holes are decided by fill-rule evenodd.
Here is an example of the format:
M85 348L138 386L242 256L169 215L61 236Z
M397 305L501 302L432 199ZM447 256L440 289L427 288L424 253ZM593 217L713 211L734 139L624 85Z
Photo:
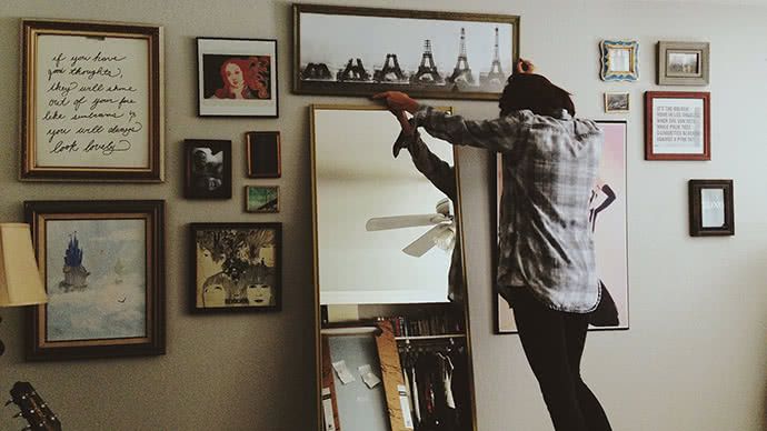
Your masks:
M570 93L552 84L546 77L532 73L510 76L498 107L501 116L524 109L529 109L539 116L550 116L564 109L570 116L575 116L575 104L572 104Z

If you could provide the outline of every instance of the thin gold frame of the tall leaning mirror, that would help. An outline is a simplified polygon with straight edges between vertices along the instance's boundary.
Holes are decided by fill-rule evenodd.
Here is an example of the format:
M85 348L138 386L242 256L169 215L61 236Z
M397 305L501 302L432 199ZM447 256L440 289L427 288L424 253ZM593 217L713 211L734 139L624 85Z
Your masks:
M436 107L446 111L454 111L451 107ZM315 112L318 110L348 110L348 111L388 111L386 107L370 106L370 104L310 104L309 106L309 126L310 126L310 149L311 149L311 230L312 230L312 295L315 301L315 408L317 411L317 430L325 431L322 427L322 334L321 334L321 304L319 291L319 262L318 262L318 232L317 232L317 136L315 124ZM471 403L471 429L477 431L477 394L475 387L474 359L471 347L471 324L469 319L469 283L467 277L466 262L466 241L464 238L464 214L462 214L462 193L460 187L460 163L458 151L455 146L452 149L452 163L456 170L456 190L458 194L458 204L455 207L456 217L458 218L458 238L461 244L461 275L464 278L464 331L466 333L466 355L467 355L467 379L469 379L469 400ZM415 168L414 168L415 169Z

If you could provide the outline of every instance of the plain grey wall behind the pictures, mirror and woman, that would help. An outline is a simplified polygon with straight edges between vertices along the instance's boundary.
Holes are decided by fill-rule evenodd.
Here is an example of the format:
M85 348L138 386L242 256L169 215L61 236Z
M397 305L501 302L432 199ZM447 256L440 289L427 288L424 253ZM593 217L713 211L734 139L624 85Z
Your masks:
M328 0L329 3L348 2ZM21 220L26 199L166 199L168 201L168 354L159 358L27 363L22 313L0 310L0 390L31 381L67 430L310 430L313 407L311 199L307 106L362 99L290 94L291 28L287 1L200 0L0 4L0 220ZM767 425L767 203L763 124L767 100L764 6L638 1L476 0L358 1L360 6L521 16L521 53L575 94L580 116L606 118L604 91L630 91L628 214L630 330L591 333L584 373L621 431L757 431ZM19 19L69 18L149 22L166 30L168 181L156 186L32 184L16 180L19 158ZM280 117L277 120L196 117L193 38L277 38ZM396 34L380 34L396 37ZM598 42L635 38L640 80L598 79ZM658 40L711 43L710 162L643 159L641 96L655 86ZM670 88L665 88L670 89ZM472 118L495 103L451 102ZM242 163L231 201L181 199L185 138L231 139L282 133L282 210L242 212ZM478 425L482 431L549 430L550 424L516 335L492 334L490 206L487 156L461 150ZM733 238L687 234L687 180L735 180ZM189 315L186 310L186 224L205 221L283 223L283 310L275 314ZM21 428L2 413L0 428Z

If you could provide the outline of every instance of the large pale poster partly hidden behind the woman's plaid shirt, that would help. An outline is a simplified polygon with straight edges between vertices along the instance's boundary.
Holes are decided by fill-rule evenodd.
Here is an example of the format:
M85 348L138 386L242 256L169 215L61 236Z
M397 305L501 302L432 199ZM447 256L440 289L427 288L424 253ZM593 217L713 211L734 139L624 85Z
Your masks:
M589 198L589 222L594 232L599 281L610 292L618 309L618 324L599 329L628 329L628 241L626 213L625 120L597 121L605 132L599 176ZM496 214L500 211L501 169L497 158ZM497 220L499 220L498 218ZM495 280L494 280L495 281ZM497 333L516 333L514 310L496 295ZM594 327L590 327L594 329Z

